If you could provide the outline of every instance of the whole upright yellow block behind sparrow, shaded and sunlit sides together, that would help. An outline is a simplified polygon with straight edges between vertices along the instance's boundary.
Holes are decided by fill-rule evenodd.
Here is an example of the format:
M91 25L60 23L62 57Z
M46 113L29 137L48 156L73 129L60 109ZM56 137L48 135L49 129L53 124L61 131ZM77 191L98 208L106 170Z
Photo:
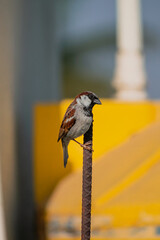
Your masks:
M57 136L63 115L71 100L57 104L41 104L34 111L34 176L35 197L38 205L43 205L57 182L66 174L82 166L82 148L71 141L69 161L63 167L61 143ZM93 159L113 149L153 121L160 119L159 102L126 103L102 100L95 106L93 129ZM83 141L82 137L77 139Z

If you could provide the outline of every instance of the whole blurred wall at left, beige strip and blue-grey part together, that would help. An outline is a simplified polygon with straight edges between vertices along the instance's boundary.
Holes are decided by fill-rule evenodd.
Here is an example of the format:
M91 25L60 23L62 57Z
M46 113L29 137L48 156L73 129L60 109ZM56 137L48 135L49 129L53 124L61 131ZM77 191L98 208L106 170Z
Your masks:
M57 1L2 0L0 73L8 239L35 239L33 109L61 97ZM15 146L15 149L14 149Z

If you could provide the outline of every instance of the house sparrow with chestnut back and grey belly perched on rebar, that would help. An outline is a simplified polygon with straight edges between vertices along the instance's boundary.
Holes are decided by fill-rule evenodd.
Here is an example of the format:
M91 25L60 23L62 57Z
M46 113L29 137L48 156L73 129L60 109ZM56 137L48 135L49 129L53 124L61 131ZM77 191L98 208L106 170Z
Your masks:
M58 141L61 139L63 147L64 167L66 167L68 159L68 144L70 140L85 134L93 121L92 108L95 104L101 104L96 94L92 92L82 92L69 105L64 115ZM92 151L87 144L80 144L81 147Z

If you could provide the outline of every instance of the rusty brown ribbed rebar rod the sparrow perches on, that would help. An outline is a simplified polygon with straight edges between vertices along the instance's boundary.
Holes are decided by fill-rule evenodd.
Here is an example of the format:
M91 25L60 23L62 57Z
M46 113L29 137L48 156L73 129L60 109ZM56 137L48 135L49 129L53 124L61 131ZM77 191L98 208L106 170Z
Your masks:
M92 148L93 123L84 134L84 144L90 142ZM92 151L83 149L83 183L82 183L82 226L81 240L90 240L91 232L91 195L92 195Z

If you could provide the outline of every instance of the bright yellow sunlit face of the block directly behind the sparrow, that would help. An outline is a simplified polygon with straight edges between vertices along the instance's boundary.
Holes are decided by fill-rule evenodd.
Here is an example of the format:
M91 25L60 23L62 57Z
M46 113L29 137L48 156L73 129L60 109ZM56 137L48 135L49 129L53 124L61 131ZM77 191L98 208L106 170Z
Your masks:
M70 102L70 100L62 102L61 119ZM150 102L126 103L102 100L102 105L95 106L93 109L93 158L97 159L106 151L123 142L128 136L156 120L157 112L160 112L160 109L157 111L157 108ZM83 141L82 137L77 140ZM69 164L72 165L73 170L82 167L82 153L79 145L71 141L69 145Z

